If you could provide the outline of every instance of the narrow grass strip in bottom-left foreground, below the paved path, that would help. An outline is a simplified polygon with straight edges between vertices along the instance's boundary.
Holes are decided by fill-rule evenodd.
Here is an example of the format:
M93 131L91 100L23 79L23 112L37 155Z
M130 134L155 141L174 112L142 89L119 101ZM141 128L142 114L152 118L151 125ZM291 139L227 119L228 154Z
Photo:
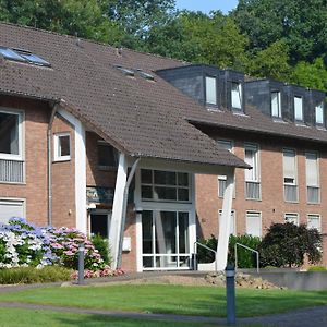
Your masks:
M0 308L0 326L2 327L21 327L21 326L48 326L48 327L65 327L65 326L87 326L87 327L167 327L167 324L175 327L202 327L213 326L203 323L177 323L161 320L145 320L108 317L102 315L73 314L53 311L38 311L24 308ZM172 325L173 324L173 325Z

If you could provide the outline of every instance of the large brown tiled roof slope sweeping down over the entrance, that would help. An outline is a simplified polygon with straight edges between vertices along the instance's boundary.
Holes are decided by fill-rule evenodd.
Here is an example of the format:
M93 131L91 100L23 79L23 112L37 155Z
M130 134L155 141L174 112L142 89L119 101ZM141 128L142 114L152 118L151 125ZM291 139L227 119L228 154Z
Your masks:
M202 112L192 99L158 76L149 82L114 68L150 73L182 65L180 61L128 49L119 55L106 45L4 23L0 46L29 50L51 64L49 69L0 61L0 92L61 100L88 128L131 156L247 167L183 118L189 108Z

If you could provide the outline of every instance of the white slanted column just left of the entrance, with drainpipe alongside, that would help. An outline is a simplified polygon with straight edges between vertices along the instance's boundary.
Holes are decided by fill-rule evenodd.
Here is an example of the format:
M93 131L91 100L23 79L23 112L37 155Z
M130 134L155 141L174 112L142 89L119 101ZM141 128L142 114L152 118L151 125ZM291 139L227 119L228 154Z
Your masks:
M119 154L119 165L116 179L113 205L112 205L112 217L110 226L110 250L112 256L112 267L117 267L118 252L119 252L119 239L121 231L121 222L123 213L123 203L124 203L124 190L126 185L128 178L128 161L124 154Z

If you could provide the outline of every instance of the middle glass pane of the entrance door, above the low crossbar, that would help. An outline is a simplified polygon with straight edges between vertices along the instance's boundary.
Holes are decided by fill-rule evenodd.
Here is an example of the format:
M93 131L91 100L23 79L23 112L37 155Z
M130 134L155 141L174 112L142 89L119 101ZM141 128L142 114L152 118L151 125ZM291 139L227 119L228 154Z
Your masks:
M156 226L156 253L175 253L177 214L172 211L157 211L154 213L154 215Z

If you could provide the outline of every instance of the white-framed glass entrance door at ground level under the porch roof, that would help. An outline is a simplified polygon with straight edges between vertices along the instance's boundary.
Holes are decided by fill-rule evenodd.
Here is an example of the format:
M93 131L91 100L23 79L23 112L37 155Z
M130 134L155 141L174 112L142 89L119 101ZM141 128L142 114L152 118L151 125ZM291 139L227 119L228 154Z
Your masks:
M189 269L189 213L142 213L143 269Z

